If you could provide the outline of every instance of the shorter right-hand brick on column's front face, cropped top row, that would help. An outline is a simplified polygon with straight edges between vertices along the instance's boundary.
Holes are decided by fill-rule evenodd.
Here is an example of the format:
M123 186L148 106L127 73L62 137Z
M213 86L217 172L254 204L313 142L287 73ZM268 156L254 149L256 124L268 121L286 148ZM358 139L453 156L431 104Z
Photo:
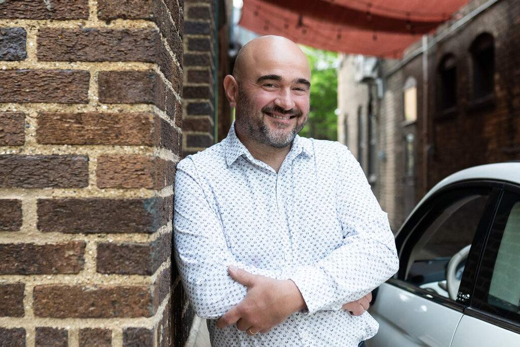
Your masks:
M152 0L98 0L98 18L151 19Z

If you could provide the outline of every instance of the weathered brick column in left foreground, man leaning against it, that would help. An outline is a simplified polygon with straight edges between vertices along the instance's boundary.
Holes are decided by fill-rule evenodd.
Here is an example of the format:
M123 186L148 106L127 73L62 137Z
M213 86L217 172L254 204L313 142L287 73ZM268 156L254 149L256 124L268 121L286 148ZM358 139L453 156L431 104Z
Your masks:
M0 345L183 343L183 7L0 2Z

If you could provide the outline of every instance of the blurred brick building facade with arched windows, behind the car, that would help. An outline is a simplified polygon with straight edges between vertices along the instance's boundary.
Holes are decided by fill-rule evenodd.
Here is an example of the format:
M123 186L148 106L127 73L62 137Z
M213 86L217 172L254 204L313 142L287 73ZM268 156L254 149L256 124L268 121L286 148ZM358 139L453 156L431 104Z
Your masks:
M367 176L374 173L372 188L394 231L447 175L520 159L519 45L520 3L474 0L424 46L379 60L363 83L342 72L340 84L349 85L339 93L365 96L340 101L347 120L339 119L339 139L346 123L344 143L356 155L365 149L358 159Z

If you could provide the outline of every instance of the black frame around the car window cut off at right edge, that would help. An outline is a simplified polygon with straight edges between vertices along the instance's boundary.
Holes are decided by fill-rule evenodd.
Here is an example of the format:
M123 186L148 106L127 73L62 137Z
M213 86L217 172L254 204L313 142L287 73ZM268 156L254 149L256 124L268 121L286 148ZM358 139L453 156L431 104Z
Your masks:
M520 333L520 313L504 310L487 302L491 277L486 277L485 274L480 271L483 267L495 267L499 248L492 250L488 245L488 241L490 237L495 237L500 241L502 240L504 230L496 227L495 218L498 214L503 212L499 210L503 207L503 203L508 203L510 201L520 201L520 186L506 183L504 184L500 199L497 203L496 213L493 216L493 223L489 228L485 240L482 259L475 278L471 305L464 310L464 314L484 320L487 323L501 328ZM489 254L490 256L484 257L484 254ZM477 291L477 287L482 287L484 290Z

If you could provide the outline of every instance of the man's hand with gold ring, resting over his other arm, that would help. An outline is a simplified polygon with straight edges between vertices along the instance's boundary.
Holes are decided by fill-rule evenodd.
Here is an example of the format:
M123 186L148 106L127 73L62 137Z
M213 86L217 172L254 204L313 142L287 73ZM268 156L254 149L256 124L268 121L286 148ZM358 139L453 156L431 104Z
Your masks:
M248 292L238 305L218 319L218 328L236 323L239 330L256 335L268 332L306 307L300 290L290 279L253 275L232 265L228 271L233 279L248 287Z

